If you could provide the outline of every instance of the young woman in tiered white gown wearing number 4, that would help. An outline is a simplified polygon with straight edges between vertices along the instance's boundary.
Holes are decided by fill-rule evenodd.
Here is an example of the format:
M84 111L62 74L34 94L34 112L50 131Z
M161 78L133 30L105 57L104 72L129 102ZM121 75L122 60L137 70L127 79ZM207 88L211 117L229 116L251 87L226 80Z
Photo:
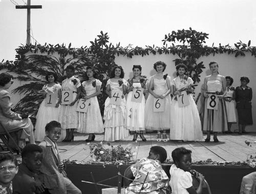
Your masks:
M113 68L110 79L106 82L106 94L108 98L105 101L104 117L105 120L105 141L122 140L129 136L129 130L126 129L126 100L124 95L126 94L127 82L124 77L124 72L121 66ZM113 90L119 90L122 92L121 104L110 104L110 99Z

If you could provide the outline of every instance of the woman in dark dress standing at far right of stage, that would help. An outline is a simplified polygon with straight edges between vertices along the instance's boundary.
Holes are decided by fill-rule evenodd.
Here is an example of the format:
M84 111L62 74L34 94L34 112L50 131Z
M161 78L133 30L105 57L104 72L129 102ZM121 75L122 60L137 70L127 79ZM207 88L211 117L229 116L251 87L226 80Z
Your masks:
M247 86L248 77L240 78L241 85L236 88L239 134L246 133L245 126L252 124L251 99L252 90Z

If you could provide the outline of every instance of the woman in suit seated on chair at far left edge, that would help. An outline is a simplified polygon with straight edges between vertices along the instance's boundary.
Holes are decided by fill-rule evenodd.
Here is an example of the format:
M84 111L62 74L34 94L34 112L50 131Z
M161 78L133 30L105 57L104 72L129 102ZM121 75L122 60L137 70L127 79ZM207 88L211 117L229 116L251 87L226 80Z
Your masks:
M24 148L25 139L29 138L29 142L35 144L33 124L27 114L17 114L11 110L11 96L6 90L13 84L13 76L8 73L0 74L0 122L11 131L15 128L23 128L22 134L18 140L18 146ZM0 128L0 132L3 132Z

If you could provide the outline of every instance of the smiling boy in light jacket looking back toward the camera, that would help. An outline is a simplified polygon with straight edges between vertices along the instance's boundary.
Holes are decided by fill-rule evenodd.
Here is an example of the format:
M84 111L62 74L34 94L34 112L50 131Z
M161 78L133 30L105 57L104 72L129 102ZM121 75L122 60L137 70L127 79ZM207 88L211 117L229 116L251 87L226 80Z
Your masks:
M61 135L61 125L51 121L46 125L45 139L39 144L42 148L42 167L40 180L52 194L81 194L81 191L68 179L64 171L65 164L61 162L56 141Z

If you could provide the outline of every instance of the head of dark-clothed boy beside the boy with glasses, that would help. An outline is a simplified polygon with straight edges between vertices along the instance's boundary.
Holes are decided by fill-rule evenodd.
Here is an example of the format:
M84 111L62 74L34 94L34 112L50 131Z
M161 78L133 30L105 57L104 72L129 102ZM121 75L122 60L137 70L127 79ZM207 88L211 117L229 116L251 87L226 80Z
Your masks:
M28 144L22 151L22 163L33 173L41 168L42 148L36 144Z

